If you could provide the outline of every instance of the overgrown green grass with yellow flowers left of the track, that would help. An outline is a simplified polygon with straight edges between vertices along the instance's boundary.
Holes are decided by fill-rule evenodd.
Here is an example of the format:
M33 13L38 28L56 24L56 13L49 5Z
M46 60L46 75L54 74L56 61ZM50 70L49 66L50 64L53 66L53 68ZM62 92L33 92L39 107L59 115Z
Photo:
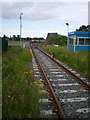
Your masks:
M9 47L8 51L3 53L2 61L3 119L38 118L40 93L30 68L30 51Z

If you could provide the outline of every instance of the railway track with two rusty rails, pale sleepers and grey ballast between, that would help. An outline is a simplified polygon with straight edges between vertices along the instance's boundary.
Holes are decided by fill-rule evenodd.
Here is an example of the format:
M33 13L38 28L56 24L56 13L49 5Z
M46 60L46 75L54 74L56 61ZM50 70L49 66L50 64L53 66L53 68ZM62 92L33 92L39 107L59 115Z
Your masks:
M37 46L32 44L31 48L34 62L36 61L43 77L58 117L65 120L89 120L90 86L87 81L74 74L75 71L70 72Z

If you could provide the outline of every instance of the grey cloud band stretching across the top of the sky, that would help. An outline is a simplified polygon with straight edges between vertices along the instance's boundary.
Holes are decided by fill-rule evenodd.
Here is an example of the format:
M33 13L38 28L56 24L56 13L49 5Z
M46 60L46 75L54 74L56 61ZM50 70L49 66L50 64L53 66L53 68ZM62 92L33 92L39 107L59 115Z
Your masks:
M49 21L54 19L83 19L88 17L87 3L64 2L8 2L2 3L2 18L29 21Z

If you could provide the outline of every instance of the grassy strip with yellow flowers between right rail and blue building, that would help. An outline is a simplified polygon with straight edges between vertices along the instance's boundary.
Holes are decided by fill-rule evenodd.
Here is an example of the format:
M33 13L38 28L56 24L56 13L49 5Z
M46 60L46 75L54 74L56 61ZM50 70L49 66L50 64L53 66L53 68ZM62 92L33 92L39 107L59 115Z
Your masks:
M83 76L90 79L89 75L89 57L90 51L68 51L66 47L54 47L53 45L45 46L42 45L42 48L51 55L54 55L55 58L59 59L63 63L71 66L77 71L81 72Z

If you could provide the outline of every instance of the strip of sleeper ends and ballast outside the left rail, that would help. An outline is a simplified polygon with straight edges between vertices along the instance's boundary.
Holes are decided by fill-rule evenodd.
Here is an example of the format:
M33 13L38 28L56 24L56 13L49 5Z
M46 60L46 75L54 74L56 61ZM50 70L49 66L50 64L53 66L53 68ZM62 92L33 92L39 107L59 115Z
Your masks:
M36 60L34 56L32 56L32 62L33 62L33 69L34 69L34 79L36 82L40 83L40 86L43 86L43 89L41 89L41 93L44 94L44 96L40 96L40 118L50 118L50 120L58 120L58 116L55 112L55 109L53 107L52 101L49 99L49 94L47 92L47 88L45 87L44 79L41 75L41 72L39 70L39 66L36 63Z

